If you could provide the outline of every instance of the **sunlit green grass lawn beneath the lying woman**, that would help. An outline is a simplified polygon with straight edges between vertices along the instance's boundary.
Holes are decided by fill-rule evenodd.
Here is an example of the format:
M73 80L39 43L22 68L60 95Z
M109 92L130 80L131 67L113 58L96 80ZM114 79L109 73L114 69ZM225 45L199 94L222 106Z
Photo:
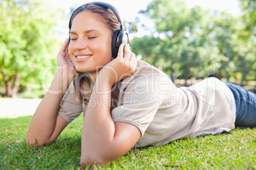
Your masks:
M1 169L80 169L82 115L44 147L27 147L31 116L0 119ZM256 128L132 148L113 164L93 169L256 169ZM86 169L89 169L88 167Z

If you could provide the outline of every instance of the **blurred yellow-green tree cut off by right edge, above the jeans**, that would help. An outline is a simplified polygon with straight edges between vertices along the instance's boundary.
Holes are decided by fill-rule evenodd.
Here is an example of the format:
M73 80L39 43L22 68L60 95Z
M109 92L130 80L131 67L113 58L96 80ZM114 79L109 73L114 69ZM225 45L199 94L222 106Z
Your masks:
M239 0L242 11L240 22L243 26L239 29L238 39L238 61L241 72L241 86L245 85L247 79L256 80L256 1L255 0Z

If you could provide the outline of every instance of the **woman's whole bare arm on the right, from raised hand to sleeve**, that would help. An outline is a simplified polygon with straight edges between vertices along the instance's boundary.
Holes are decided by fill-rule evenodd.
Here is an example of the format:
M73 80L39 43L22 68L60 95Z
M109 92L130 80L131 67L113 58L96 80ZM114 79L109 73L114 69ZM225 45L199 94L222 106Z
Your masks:
M82 166L112 162L138 141L138 128L125 122L113 122L110 114L111 87L133 74L136 65L137 60L129 45L124 48L121 44L117 58L99 72L83 122Z

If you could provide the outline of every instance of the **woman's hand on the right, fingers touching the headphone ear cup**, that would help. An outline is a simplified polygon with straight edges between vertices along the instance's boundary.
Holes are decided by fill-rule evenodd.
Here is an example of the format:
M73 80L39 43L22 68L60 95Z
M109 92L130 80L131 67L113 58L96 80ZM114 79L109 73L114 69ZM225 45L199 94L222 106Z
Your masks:
M118 50L117 58L105 65L99 72L101 78L107 78L110 84L120 81L135 72L137 60L132 53L129 44L121 44Z

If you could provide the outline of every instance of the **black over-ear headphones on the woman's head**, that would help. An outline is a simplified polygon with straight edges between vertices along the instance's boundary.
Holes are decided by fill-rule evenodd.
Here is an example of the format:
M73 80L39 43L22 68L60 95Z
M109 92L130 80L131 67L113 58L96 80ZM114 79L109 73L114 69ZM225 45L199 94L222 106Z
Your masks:
M112 38L112 44L111 44L112 56L113 56L113 58L116 58L119 46L122 43L124 43L124 44L128 44L129 43L129 37L128 37L127 31L126 31L124 22L122 22L117 8L115 8L111 4L103 3L103 2L92 2L92 3L87 3L87 4L96 4L97 6L101 6L101 7L105 8L105 9L109 8L111 11L113 11L113 13L115 13L115 16L117 16L117 20L118 20L118 22L120 22L120 29L117 30L114 33L113 38ZM85 6L87 4L83 4L82 6ZM80 6L78 8L81 8L82 6ZM76 10L78 10L78 8ZM69 20L69 31L70 31L70 29L71 29L71 18ZM70 37L69 37L69 42L70 42Z

